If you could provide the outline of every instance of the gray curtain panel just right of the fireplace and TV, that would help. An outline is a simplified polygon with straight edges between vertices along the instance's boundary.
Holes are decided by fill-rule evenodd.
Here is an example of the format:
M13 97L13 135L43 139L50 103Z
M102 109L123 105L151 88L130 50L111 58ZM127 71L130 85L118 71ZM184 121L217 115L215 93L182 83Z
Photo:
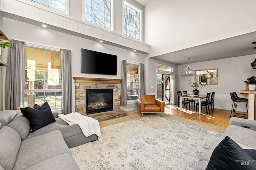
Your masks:
M127 105L127 72L126 72L126 60L122 60L121 66L121 99L120 99L120 106Z

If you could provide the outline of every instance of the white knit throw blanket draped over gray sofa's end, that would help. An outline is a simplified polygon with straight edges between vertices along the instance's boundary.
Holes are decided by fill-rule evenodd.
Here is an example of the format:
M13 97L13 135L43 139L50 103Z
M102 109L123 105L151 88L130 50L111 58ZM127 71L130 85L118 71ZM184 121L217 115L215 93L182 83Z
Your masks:
M67 115L59 114L58 117L66 121L69 125L77 124L81 128L85 137L96 134L98 136L98 140L102 140L102 137L100 137L100 123L98 120L92 117L83 116L77 112L72 112Z

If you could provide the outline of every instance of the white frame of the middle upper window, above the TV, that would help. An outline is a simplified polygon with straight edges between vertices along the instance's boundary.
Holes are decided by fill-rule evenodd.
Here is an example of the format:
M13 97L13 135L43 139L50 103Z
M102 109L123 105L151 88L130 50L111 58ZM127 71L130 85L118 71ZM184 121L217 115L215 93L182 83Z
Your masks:
M103 30L109 30L109 31L114 31L114 0L110 0L110 29L107 29L105 27L101 27L100 25L96 25L94 23L91 23L91 22L88 22L85 20L85 0L82 0L82 20L88 24L88 25L91 25L93 27L98 27L98 28L101 28Z

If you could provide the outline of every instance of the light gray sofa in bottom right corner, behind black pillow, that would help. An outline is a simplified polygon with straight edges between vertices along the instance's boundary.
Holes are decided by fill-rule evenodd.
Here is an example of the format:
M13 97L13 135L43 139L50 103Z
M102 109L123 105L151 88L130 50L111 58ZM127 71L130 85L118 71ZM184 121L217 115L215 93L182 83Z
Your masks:
M243 126L243 127L242 127ZM225 133L204 153L200 161L194 168L195 170L205 170L208 166L214 149L226 137L230 137L242 149L256 149L256 121L232 117ZM221 165L220 165L221 166Z

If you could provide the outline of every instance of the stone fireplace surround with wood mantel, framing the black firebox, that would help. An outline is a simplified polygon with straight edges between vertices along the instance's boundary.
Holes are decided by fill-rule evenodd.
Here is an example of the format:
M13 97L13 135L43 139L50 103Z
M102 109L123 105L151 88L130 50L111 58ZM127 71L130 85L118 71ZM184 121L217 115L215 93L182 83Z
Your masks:
M108 78L73 77L75 80L75 111L86 114L86 89L113 89L113 111L120 110L121 80ZM108 112L108 111L107 111ZM111 112L111 111L110 111ZM94 113L99 114L99 113ZM91 115L94 115L91 114ZM102 114L109 114L102 112ZM116 114L115 115L119 115Z

